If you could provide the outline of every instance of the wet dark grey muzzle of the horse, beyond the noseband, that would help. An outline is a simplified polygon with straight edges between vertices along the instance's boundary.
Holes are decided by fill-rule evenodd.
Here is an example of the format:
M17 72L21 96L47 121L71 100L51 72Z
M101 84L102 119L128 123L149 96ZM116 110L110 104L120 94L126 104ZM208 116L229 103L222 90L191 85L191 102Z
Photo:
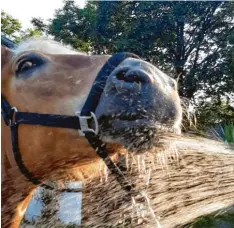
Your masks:
M176 82L146 61L126 59L108 78L96 114L105 140L134 152L149 150L161 134L179 131Z

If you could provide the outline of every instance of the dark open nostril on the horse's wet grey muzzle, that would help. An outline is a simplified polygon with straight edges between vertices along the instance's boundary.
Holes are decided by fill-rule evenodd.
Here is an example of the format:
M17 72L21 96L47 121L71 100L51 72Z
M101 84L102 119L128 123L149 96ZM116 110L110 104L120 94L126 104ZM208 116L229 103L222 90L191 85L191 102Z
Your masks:
M120 81L129 82L129 83L141 83L144 81L142 73L139 71L127 71L122 70L116 73L116 78Z

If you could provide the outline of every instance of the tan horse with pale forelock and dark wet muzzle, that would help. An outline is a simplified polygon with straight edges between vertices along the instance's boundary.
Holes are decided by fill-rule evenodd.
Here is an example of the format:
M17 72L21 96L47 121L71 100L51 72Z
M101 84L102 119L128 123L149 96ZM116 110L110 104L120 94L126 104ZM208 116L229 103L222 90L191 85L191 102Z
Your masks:
M2 96L20 112L75 116L109 55L87 55L46 39L1 46ZM95 110L108 155L141 154L164 134L180 133L181 100L174 79L139 58L125 58L108 75ZM16 109L12 109L16 111ZM37 187L14 157L2 119L2 227L18 227ZM76 168L82 181L96 175L100 157L78 129L20 124L23 166L42 183Z

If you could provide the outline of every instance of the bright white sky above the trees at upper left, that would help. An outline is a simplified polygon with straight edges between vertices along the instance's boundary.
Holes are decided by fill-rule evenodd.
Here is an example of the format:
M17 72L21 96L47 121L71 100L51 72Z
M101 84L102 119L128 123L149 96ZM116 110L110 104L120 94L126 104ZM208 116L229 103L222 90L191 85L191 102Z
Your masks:
M84 7L86 0L75 0L76 4ZM32 17L43 19L52 18L55 9L61 8L63 0L2 0L1 10L10 14L22 23L23 29L32 27Z

